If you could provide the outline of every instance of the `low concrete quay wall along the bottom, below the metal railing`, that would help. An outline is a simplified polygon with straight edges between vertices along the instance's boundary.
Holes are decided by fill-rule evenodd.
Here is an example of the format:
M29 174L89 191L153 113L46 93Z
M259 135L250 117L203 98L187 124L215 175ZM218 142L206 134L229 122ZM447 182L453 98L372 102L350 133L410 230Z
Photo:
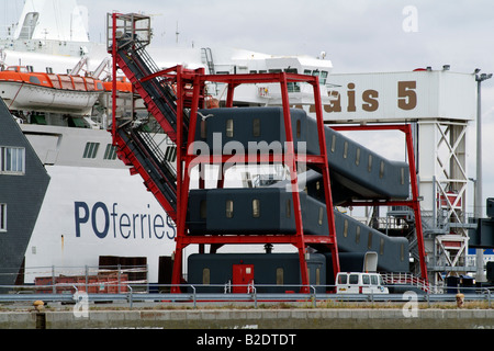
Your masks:
M40 320L42 322L40 324ZM1 329L494 329L494 309L205 308L0 312Z

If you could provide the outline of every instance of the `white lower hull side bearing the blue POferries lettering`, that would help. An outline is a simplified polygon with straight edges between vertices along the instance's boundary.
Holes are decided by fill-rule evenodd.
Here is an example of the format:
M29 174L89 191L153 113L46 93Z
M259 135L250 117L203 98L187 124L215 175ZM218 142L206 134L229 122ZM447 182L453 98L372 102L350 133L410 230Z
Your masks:
M146 258L148 281L157 283L159 257L172 254L176 231L141 179L126 169L46 169L52 182L25 252L25 283L52 268L80 274L109 256Z

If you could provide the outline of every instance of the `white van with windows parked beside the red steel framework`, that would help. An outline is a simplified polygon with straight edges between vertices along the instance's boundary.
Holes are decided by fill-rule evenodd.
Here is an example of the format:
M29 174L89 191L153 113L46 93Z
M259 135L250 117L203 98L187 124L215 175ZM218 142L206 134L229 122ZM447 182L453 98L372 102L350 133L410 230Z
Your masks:
M340 272L336 275L337 294L389 294L381 274Z

